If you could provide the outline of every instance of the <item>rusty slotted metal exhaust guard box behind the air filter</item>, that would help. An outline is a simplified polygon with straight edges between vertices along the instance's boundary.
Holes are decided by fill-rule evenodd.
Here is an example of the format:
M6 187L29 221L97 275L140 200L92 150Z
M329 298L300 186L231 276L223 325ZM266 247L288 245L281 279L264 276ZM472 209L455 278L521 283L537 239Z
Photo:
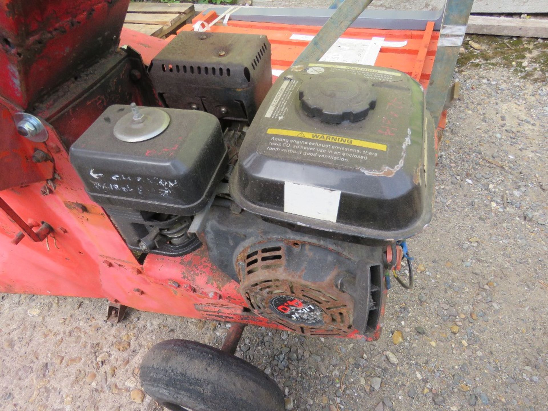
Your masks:
M272 87L266 36L182 31L151 61L165 107L250 123Z

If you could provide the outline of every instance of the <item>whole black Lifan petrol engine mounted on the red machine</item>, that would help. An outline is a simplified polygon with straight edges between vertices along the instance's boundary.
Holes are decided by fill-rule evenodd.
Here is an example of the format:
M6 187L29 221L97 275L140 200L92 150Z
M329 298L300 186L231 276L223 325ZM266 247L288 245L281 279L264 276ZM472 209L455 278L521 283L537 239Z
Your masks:
M329 62L272 85L270 55L264 36L181 33L149 67L163 107L111 106L71 162L140 258L206 247L250 313L378 338L396 243L431 218L423 89Z

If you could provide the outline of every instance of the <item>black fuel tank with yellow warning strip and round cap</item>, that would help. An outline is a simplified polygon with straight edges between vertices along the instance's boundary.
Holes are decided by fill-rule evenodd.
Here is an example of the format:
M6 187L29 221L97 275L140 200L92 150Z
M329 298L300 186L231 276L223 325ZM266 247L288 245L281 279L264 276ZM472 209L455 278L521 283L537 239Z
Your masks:
M266 96L230 181L269 219L392 241L430 221L434 124L424 92L389 68L312 63Z

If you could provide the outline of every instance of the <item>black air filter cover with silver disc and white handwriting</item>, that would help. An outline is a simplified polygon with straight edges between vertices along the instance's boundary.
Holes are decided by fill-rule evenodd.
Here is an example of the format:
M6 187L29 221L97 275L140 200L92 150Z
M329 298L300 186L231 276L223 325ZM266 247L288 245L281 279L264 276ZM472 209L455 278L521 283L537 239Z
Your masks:
M110 106L71 146L71 163L102 207L196 214L225 172L227 149L219 120L200 111L154 110L169 116L167 128L149 140L128 142L118 139L114 129L132 110Z

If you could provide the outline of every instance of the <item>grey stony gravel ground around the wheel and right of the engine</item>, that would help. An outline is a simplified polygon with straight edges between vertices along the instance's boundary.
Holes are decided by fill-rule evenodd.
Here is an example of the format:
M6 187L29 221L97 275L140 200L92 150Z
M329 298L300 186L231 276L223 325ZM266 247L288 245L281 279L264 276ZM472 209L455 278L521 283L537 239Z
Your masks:
M381 339L246 329L237 355L283 387L288 409L548 409L548 88L502 66L456 76L435 216L409 242L416 286L394 282ZM147 349L220 346L226 334L138 311L113 326L105 314L103 300L1 294L0 409L159 411L139 387Z

